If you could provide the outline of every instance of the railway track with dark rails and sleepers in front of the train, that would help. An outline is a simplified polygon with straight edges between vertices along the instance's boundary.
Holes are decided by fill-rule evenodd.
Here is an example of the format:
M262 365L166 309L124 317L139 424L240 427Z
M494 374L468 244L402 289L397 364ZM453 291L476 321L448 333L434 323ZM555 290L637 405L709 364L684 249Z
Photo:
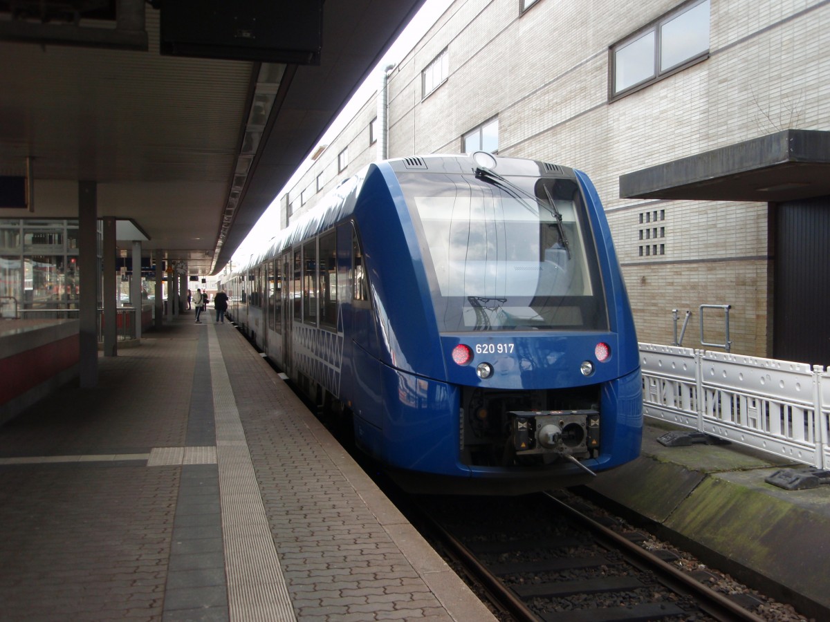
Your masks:
M504 620L763 620L573 505L550 494L496 508L492 498L419 502Z

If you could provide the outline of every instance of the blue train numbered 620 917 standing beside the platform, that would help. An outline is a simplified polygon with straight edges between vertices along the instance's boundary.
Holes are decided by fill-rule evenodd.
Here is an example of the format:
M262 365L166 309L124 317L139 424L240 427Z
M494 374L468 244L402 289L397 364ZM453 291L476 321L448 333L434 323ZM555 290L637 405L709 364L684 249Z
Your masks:
M637 336L577 170L373 163L227 280L232 320L415 492L518 494L637 457Z

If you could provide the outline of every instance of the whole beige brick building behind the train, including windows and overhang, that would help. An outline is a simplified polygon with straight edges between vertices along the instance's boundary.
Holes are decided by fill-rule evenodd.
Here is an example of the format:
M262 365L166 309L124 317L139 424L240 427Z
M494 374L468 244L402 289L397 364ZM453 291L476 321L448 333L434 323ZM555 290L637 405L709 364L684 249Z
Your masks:
M592 177L640 341L671 343L688 309L701 347L700 305L730 305L732 352L830 364L826 0L457 0L387 75L389 158L483 148ZM284 223L378 158L378 99Z

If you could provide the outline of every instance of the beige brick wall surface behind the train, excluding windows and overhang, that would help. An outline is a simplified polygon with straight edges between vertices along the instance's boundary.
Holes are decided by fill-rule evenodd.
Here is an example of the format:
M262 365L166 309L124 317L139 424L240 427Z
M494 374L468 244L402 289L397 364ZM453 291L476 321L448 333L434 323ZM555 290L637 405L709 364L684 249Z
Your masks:
M540 0L520 16L515 0L458 0L390 75L390 157L458 153L462 134L497 116L501 154L566 164L592 178L641 341L670 343L671 309L681 310L681 321L690 309L684 344L694 345L699 306L730 304L732 351L769 356L767 205L622 199L619 177L782 129L830 129L830 5L821 4L711 0L710 56L609 103L609 47L681 2ZM421 71L445 48L447 82L422 100ZM334 185L346 144L345 173L376 157L368 146L375 114L373 99L297 196L320 171L327 189ZM640 215L654 211L662 220L641 224ZM658 254L641 256L646 244ZM707 314L706 340L720 341L722 327L722 315Z

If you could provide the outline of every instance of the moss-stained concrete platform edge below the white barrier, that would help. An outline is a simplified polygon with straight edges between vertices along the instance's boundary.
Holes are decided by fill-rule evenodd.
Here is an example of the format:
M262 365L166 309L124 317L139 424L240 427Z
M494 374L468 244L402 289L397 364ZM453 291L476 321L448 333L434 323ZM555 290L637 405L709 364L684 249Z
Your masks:
M676 430L687 429L647 417L640 457L588 488L738 581L830 620L830 485L769 484L779 471L810 469L738 443L659 441Z

